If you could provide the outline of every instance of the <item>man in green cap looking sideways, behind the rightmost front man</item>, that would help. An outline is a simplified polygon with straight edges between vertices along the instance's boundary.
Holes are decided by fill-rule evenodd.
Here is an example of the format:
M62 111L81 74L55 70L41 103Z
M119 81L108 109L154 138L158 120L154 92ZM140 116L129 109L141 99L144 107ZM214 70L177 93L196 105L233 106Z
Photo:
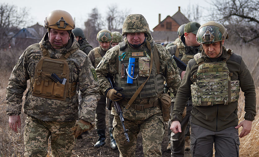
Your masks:
M201 52L201 46L196 41L196 34L200 24L197 22L189 22L184 27L184 33L181 36L181 41L176 45L170 46L167 50L171 53L171 55L175 55L181 61L183 61L186 65L188 61L194 57L195 54ZM185 71L179 69L179 73L181 74L181 79L184 76ZM188 96L189 100L186 104L186 116L181 121L181 129L183 130L179 134L171 133L171 157L183 157L184 151L190 150L190 115L192 102L190 95ZM174 108L174 100L172 100L171 109ZM189 123L189 125L188 125ZM186 132L185 132L186 131Z

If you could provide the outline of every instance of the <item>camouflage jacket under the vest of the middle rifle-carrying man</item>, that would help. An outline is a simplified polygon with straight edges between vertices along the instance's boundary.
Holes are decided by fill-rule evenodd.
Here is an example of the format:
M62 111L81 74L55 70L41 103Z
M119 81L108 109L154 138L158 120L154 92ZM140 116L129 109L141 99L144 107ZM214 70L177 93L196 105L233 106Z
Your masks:
M124 38L124 41L125 43L127 43L128 46L130 46L127 42L127 38ZM159 54L160 73L163 74L163 76L165 77L167 81L167 86L171 88L173 93L176 93L177 88L181 84L181 78L179 76L179 72L174 68L172 57L165 49L165 47L159 44L155 44L155 45L157 47L158 54ZM146 46L146 43L142 46ZM113 48L109 49L106 52L103 59L101 60L101 63L99 64L99 66L97 66L96 68L96 74L98 76L99 83L100 83L100 91L103 95L105 95L105 91L108 88L111 88L111 85L108 79L105 78L105 76L107 76L107 74L118 74L118 71L116 69L118 52L119 52L119 45L116 45Z

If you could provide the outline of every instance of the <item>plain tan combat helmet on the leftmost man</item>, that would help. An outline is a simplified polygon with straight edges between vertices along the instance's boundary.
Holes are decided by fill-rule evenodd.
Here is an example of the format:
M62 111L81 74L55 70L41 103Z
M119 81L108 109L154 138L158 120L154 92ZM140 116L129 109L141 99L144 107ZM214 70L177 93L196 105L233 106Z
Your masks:
M54 10L45 18L45 28L69 31L75 28L73 17L66 11Z

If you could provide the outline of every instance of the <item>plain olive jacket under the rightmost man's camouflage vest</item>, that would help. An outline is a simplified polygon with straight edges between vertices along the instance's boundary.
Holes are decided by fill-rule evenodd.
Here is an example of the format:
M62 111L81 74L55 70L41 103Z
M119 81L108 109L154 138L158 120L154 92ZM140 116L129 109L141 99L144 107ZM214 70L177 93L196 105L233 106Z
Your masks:
M220 62L227 58L226 48L223 47L222 55L218 58L208 58L202 51L204 62ZM253 121L256 115L256 92L255 85L247 65L242 56L233 53L227 60L227 66L230 73L233 73L231 80L239 80L240 88L245 96L245 115L244 119ZM194 59L191 59L186 68L181 86L178 88L172 112L171 121L181 121L181 115L185 107L185 102L191 95L190 85L191 77L197 74L198 65ZM221 131L230 126L238 125L238 102L234 101L227 105L216 104L213 106L193 106L192 123L210 129L212 131Z

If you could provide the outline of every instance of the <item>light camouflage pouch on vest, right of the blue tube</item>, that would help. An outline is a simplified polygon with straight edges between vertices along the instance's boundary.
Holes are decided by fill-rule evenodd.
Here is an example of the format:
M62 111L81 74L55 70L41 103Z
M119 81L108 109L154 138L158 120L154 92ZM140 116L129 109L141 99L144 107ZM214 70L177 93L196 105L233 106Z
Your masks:
M150 70L150 60L148 57L139 58L139 76L148 77Z

